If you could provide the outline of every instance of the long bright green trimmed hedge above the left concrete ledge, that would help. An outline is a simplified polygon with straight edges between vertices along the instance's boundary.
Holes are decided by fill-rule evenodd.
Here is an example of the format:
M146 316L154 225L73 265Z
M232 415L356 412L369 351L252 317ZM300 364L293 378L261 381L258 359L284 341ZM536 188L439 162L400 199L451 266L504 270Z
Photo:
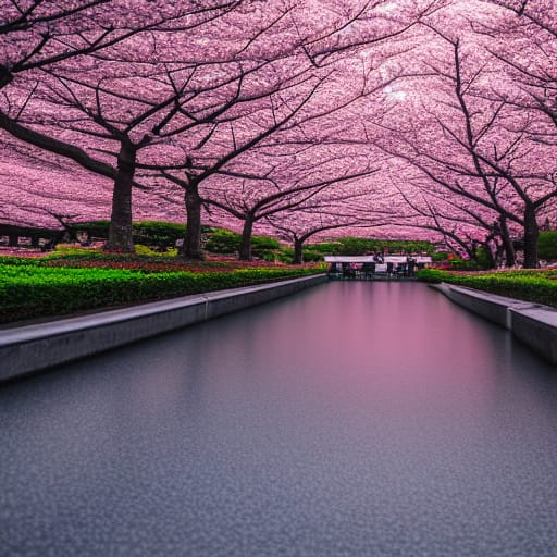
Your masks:
M313 274L308 269L191 273L0 265L0 321L62 315L95 308L234 288Z

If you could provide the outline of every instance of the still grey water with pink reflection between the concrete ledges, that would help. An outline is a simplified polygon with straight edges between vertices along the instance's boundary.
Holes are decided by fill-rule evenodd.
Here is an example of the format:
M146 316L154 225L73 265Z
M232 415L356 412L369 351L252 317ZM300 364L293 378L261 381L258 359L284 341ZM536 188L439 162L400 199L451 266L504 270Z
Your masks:
M2 556L555 556L557 373L333 282L0 389Z

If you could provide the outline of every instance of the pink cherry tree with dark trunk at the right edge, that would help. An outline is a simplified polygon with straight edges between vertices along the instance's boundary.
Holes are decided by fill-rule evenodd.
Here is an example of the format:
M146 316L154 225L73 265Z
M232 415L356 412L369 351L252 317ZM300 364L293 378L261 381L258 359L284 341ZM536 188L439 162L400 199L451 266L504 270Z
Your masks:
M430 187L495 211L508 263L513 259L506 223L520 224L524 264L536 267L536 219L557 196L550 162L535 140L543 124L527 108L491 96L498 67L487 49L468 36L431 28L440 42L423 67L436 91L434 103L421 99L412 128L395 134L405 147L392 143L387 150L418 168Z

